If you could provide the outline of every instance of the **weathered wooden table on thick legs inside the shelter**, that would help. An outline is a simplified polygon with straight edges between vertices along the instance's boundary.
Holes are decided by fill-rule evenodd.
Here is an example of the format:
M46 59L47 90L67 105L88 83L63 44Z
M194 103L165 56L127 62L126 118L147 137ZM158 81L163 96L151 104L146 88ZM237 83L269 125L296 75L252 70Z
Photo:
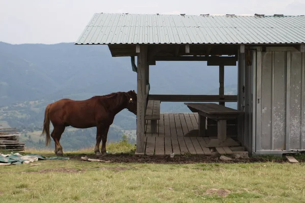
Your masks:
M184 103L184 104L187 105L192 112L198 113L199 115L199 121L198 121L199 136L205 137L206 118L217 120L218 140L210 142L209 145L213 145L210 147L218 147L220 145L224 147L224 146L232 145L231 140L227 139L227 120L236 119L239 115L243 114L242 111L238 111L214 103Z

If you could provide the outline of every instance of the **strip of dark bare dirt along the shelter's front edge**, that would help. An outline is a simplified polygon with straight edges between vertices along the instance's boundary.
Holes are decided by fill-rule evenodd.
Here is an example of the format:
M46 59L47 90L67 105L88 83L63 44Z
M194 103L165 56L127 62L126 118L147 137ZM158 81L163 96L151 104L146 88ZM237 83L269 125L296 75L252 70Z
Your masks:
M191 155L191 156L134 156L127 154L109 154L103 157L97 157L95 154L80 154L80 155L68 155L70 159L80 160L82 156L88 158L101 159L104 161L110 161L111 163L171 163L171 164L187 164L187 163L252 163L252 162L286 162L284 159L268 159L263 157L250 157L250 158L238 158L223 161L219 157L212 157L206 155Z

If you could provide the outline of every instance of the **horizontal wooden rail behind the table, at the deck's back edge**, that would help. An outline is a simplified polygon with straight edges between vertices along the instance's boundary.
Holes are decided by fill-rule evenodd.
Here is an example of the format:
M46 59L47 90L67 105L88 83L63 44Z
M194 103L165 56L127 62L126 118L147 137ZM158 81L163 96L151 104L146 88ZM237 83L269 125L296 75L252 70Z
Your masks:
M160 101L237 102L237 95L149 94L148 99Z

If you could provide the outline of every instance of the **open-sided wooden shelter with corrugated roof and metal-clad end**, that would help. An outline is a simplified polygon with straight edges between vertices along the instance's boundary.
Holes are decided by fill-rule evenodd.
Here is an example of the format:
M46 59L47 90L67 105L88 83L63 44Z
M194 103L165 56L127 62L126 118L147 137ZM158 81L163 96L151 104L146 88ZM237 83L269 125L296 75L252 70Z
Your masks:
M104 44L113 57L131 57L137 154L231 154L243 148L284 154L305 151L304 31L305 16L97 13L75 44ZM149 66L156 61L219 66L219 95L149 94ZM224 94L230 65L238 65L237 95ZM160 113L165 101L185 101L193 113ZM224 107L236 101L237 110Z

